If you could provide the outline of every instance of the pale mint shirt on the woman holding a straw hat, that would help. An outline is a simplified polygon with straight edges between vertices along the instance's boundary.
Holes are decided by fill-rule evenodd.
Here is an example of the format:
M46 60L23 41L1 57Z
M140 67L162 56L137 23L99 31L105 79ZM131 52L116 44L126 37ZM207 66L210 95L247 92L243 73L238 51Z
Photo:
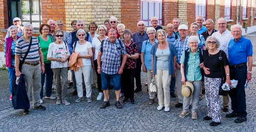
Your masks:
M199 58L199 50L196 51L196 54L194 55L193 52L188 49L188 60L187 60L187 73L186 77L188 81L200 81L202 80L202 75L200 72L200 58ZM183 54L180 58L180 63L184 64L185 62L185 51L183 51ZM184 67L185 68L185 67Z

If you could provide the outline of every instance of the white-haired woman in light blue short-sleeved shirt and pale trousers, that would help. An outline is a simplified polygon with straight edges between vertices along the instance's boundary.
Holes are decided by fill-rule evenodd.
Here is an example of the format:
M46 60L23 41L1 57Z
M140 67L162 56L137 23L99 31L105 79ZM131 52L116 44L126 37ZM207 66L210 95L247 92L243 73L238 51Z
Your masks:
M142 71L146 72L147 84L150 84L152 81L152 75L151 75L152 55L150 54L150 51L151 51L152 46L154 44L158 43L158 40L156 39L156 30L153 27L147 28L146 34L149 39L142 43L141 63L142 63ZM150 101L148 103L153 104L154 99L155 99L155 92L151 92L148 89L148 94L150 95Z

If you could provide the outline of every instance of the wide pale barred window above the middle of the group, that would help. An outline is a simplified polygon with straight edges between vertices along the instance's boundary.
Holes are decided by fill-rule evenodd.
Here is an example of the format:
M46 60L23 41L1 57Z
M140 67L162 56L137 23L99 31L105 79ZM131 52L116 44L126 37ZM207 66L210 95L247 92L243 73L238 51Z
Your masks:
M162 25L162 0L141 0L141 20L145 21L146 26L151 26L150 19L156 16L159 25Z

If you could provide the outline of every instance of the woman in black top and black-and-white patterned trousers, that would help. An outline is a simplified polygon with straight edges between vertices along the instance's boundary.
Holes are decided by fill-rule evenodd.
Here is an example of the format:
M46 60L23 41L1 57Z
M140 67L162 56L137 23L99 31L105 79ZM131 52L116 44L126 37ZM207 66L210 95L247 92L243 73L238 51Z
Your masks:
M203 69L204 69L204 86L205 97L208 107L208 115L204 117L204 120L211 120L210 126L217 126L221 123L221 109L219 100L219 87L221 85L221 65L220 55L222 55L222 65L225 69L226 83L231 85L229 78L229 63L227 55L223 50L218 49L220 42L217 38L209 36L206 39L206 47L203 54ZM223 75L224 76L224 75Z

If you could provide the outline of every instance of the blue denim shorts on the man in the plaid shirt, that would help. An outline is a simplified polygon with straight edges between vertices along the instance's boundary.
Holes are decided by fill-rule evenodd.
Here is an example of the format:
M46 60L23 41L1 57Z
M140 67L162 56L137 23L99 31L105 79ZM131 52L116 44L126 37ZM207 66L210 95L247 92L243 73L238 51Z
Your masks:
M113 89L115 91L120 90L120 81L121 81L121 74L106 74L103 71L101 71L101 85L102 90L107 90L110 87L110 81L113 82Z

